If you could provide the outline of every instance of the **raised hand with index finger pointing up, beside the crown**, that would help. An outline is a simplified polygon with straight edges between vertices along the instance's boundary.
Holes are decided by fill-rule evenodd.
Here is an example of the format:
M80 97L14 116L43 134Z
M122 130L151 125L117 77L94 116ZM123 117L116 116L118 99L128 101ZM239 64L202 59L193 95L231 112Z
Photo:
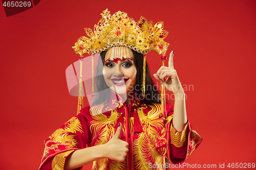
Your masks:
M174 69L173 57L174 51L170 53L168 67L161 66L158 69L157 74L154 74L153 76L163 84L167 90L172 91L174 94L184 93L177 72Z

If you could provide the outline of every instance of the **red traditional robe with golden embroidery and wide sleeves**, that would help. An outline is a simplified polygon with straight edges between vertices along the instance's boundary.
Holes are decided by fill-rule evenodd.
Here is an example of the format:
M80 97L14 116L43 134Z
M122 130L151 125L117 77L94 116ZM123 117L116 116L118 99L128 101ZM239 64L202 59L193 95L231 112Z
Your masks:
M165 169L164 158L182 163L202 138L189 123L177 132L172 123L173 107L166 104L166 110L164 115L161 104L145 104L139 99L132 100L128 108L118 94L111 92L109 103L81 109L45 141L39 170L63 169L72 152L86 145L107 143L119 123L123 127L120 139L129 143L126 158L123 162L99 159L93 162L92 169Z

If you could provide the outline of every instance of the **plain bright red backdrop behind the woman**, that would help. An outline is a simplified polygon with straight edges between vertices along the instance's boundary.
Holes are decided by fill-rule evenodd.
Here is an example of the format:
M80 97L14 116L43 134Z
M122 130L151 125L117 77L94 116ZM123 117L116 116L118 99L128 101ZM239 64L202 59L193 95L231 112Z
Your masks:
M0 169L37 169L44 140L76 114L65 76L79 57L71 47L106 8L164 21L167 54L175 50L181 83L194 86L188 120L203 137L186 162L256 163L255 1L48 0L10 17L0 7ZM153 75L160 55L147 59Z

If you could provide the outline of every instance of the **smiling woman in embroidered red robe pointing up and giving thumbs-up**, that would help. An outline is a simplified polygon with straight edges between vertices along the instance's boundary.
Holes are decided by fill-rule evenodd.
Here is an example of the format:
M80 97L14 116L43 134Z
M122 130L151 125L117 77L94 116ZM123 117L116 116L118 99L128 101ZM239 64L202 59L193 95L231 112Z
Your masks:
M107 10L103 15L110 17ZM116 16L129 19L120 11ZM99 23L101 26L106 22ZM125 23L130 24L131 19ZM124 32L116 28L120 30L116 36L128 34L128 29ZM82 47L78 45L80 50L89 49L86 40L82 43ZM175 164L182 163L198 147L202 139L186 119L184 91L173 66L174 52L170 53L168 67L162 66L154 74L174 93L173 109L160 104L145 56L131 50L139 45L129 44L128 48L124 42L118 43L111 43L101 52L99 63L104 64L97 66L97 74L102 76L97 76L96 90L103 93L96 93L94 105L81 109L45 141L39 169L81 169L93 161L93 169L165 169L170 166L164 164L164 157Z

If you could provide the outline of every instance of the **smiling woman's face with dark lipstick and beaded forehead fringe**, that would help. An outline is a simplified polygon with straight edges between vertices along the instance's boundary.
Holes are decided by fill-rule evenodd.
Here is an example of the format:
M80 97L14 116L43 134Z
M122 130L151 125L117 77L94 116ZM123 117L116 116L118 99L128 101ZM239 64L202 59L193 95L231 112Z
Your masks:
M106 84L118 94L133 91L137 70L134 62L127 60L127 58L134 58L132 50L126 47L112 47L106 55L110 56L110 61L106 61L102 71ZM124 57L124 60L115 63L113 59L117 56L118 58Z

